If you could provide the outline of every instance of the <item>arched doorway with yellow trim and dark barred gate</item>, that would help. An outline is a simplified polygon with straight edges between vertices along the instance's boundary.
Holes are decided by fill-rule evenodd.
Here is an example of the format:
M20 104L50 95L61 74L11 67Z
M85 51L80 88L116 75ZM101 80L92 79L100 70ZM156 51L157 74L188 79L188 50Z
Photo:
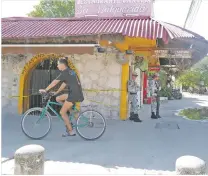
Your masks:
M24 113L32 107L41 106L38 90L45 88L59 74L57 60L63 55L38 54L25 66L20 77L18 112ZM75 66L68 59L68 64L79 76Z

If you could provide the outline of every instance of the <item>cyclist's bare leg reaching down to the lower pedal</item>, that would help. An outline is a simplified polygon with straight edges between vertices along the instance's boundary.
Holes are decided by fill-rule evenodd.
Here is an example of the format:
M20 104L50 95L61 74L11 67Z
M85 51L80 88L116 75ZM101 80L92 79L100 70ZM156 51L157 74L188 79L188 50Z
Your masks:
M65 101L63 106L62 106L62 108L61 108L61 111L60 111L60 114L61 114L61 116L62 116L62 118L63 118L63 120L65 122L65 125L66 125L66 127L68 129L69 134L73 133L73 129L72 129L70 120L68 118L67 112L70 111L72 106L73 106L72 102Z

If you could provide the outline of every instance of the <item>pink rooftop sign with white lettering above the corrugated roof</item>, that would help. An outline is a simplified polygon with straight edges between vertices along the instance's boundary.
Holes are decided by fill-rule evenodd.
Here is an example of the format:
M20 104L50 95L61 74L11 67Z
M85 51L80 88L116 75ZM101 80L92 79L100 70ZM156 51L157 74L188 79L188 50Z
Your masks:
M152 8L153 0L76 0L75 17L150 17Z

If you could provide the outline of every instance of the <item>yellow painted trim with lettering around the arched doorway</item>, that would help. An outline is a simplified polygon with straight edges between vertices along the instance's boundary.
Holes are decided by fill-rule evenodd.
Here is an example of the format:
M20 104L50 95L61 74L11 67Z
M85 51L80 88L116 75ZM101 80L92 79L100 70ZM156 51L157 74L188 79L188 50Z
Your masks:
M48 58L58 59L60 57L64 57L64 55L63 54L54 54L54 53L50 53L50 54L40 53L40 54L37 54L34 57L32 57L32 59L28 63L25 64L25 66L21 72L20 82L19 82L19 99L18 99L18 112L19 112L19 114L23 113L23 103L24 103L24 98L25 98L24 97L25 96L24 90L27 86L27 81L28 81L28 77L29 77L31 70L35 66L37 66L41 61L44 61ZM69 59L68 59L68 64L69 64L69 67L72 70L74 70L79 77L78 70L76 69L76 67L74 66L72 61ZM26 97L26 98L28 98L28 97ZM77 103L76 106L78 109L80 109L80 103Z

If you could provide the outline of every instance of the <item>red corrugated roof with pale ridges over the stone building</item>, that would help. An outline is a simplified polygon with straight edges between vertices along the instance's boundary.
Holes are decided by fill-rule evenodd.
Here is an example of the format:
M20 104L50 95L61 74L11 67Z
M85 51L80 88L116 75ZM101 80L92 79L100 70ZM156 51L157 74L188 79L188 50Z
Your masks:
M151 18L3 18L2 39L122 34L147 39L203 38L181 27Z

